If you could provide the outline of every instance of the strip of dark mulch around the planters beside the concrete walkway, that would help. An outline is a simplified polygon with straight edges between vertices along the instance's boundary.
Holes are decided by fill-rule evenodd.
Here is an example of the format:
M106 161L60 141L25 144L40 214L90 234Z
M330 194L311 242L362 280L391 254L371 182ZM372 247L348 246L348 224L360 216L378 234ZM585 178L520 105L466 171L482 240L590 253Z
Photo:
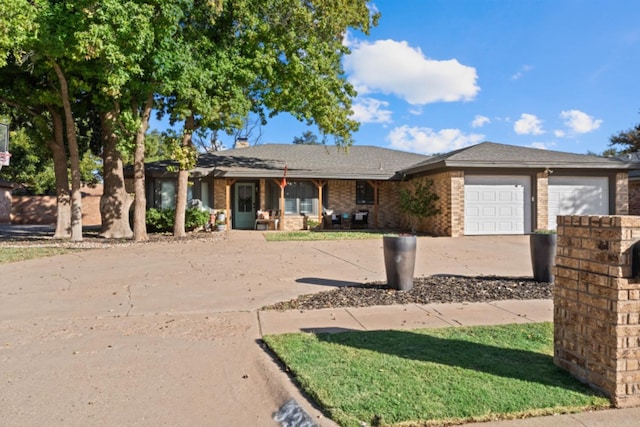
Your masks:
M392 304L551 299L552 291L553 284L536 282L531 278L437 275L414 279L410 291L390 289L385 283L366 283L302 295L263 309L314 310Z

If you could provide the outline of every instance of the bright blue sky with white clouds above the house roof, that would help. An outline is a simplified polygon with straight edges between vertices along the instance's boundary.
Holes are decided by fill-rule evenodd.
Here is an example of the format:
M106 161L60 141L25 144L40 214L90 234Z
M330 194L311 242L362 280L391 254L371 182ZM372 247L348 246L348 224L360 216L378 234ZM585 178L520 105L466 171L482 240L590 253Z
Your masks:
M600 153L640 122L640 2L377 0L349 33L355 144L422 154L482 141ZM305 130L281 115L260 143ZM223 139L230 147L230 139Z

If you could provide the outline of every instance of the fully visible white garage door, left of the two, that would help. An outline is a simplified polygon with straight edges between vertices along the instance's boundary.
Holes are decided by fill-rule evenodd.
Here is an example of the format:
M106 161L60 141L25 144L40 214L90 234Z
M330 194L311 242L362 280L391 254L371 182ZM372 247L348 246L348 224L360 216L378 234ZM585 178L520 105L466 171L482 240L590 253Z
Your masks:
M525 234L530 231L529 177L465 176L465 234Z

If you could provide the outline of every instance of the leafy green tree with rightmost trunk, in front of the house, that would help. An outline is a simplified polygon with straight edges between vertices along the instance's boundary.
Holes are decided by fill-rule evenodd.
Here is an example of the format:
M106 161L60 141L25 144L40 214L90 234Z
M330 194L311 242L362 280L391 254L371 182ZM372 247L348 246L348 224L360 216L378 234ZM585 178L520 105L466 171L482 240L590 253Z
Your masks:
M289 112L338 145L358 128L350 118L355 95L341 68L348 28L367 33L378 16L366 0L194 1L176 43L188 52L167 81L166 111L184 123L174 234L184 235L192 135L242 124L249 112L263 122Z

